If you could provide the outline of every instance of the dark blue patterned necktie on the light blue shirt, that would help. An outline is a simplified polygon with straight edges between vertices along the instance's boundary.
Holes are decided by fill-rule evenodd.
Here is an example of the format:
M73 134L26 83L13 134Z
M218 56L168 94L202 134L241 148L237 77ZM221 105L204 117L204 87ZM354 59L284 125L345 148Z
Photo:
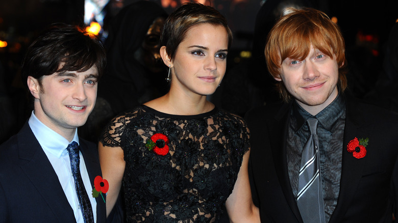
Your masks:
M79 198L80 210L82 210L85 223L94 223L94 217L91 210L90 199L88 198L86 189L84 188L82 175L80 175L80 157L79 145L77 142L72 142L66 148L70 158L70 168L72 169L74 185Z

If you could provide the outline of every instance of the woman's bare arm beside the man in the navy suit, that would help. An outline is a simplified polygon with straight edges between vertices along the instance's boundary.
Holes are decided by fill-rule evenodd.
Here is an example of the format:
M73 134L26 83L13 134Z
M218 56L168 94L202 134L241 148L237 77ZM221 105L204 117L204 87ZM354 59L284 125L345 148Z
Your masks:
M107 193L107 216L111 213L119 195L121 180L125 173L126 162L123 150L120 147L104 146L98 143L99 163L101 163L102 176L109 183Z

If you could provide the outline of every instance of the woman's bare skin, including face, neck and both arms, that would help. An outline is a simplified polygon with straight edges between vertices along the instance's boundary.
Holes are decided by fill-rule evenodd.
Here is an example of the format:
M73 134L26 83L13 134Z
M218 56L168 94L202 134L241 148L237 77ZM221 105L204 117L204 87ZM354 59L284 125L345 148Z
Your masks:
M171 67L170 90L145 105L172 115L197 115L212 110L214 104L207 101L206 96L214 93L225 74L227 48L228 34L225 27L207 23L193 26L188 31L177 48L174 60L169 58L166 47L162 46L162 60L167 67ZM110 148L102 143L98 147L103 176L109 182L109 214L120 191L126 162L120 147ZM249 153L246 152L243 156L237 181L226 202L231 222L260 222L259 210L253 204L248 181Z

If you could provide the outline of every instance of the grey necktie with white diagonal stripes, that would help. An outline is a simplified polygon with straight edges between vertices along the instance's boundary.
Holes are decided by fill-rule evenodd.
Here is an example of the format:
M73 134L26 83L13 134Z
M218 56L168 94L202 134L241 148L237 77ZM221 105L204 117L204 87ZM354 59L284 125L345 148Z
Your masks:
M301 156L297 206L305 223L325 222L324 196L319 171L318 135L316 127L318 120L307 120L310 137L303 148Z

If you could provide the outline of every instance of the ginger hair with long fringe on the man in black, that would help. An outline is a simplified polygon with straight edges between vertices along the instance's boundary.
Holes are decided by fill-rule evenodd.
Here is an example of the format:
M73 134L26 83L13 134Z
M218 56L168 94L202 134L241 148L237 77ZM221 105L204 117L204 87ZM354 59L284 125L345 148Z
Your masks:
M337 24L324 12L312 8L288 8L286 12L288 14L282 16L268 34L264 53L269 73L280 78L282 62L286 58L304 60L312 44L328 57L336 59L338 87L344 91L347 87L345 44ZM278 81L277 88L284 101L291 99L282 81Z

